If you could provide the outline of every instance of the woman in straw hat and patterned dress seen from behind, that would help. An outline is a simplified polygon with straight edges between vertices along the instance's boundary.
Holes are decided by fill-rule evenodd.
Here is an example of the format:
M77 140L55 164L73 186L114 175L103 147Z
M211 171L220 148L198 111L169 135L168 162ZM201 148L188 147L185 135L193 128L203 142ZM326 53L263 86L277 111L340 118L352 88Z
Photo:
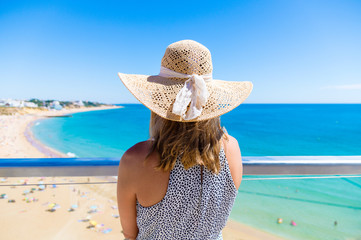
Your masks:
M240 105L251 82L212 78L209 50L169 45L158 75L118 73L151 110L150 139L119 163L118 209L126 239L222 239L242 180L238 142L220 115Z

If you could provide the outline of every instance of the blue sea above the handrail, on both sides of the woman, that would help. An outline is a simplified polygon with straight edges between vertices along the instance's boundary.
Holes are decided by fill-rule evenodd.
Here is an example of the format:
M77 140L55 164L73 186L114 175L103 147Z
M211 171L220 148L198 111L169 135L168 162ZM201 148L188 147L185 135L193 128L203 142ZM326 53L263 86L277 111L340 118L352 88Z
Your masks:
M150 111L124 108L49 118L36 138L78 157L121 157L147 140ZM243 156L361 155L361 104L241 104L221 117Z

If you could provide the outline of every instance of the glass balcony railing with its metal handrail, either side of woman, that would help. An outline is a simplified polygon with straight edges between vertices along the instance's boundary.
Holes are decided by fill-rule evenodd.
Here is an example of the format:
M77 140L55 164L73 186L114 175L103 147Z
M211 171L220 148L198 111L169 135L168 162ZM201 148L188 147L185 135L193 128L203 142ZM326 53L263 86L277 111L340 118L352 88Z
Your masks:
M244 177L224 239L361 236L361 157L243 160ZM0 226L6 231L0 239L121 239L118 163L1 159Z

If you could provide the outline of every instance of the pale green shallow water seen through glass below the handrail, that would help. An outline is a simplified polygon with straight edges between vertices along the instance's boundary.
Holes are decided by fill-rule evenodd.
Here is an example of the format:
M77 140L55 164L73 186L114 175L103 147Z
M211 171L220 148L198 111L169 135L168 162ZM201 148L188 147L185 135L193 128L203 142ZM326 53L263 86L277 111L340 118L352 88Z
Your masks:
M244 177L231 218L286 239L361 236L361 176Z

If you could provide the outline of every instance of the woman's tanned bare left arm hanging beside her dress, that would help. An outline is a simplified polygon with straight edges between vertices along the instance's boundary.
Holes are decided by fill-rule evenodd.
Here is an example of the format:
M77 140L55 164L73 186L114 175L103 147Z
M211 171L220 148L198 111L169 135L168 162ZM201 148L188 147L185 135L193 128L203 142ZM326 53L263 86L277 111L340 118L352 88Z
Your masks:
M137 211L136 211L136 175L134 149L124 153L119 163L117 198L120 223L123 228L123 235L126 239L136 239L138 235ZM133 153L133 154L132 154Z

